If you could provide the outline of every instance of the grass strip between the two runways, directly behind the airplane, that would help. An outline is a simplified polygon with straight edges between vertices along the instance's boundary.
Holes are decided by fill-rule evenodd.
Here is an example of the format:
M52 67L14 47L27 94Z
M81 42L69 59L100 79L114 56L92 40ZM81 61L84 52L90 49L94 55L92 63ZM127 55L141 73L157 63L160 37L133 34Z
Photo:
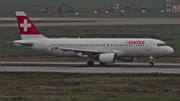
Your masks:
M156 38L165 41L175 50L174 54L157 58L155 62L179 62L180 25L126 25L126 26L69 26L69 27L38 27L46 37L68 38ZM1 28L0 30L0 60L1 61L84 61L76 58L60 58L42 55L24 48L12 45L19 40L18 28ZM86 60L85 60L86 61ZM136 62L148 59L138 58Z

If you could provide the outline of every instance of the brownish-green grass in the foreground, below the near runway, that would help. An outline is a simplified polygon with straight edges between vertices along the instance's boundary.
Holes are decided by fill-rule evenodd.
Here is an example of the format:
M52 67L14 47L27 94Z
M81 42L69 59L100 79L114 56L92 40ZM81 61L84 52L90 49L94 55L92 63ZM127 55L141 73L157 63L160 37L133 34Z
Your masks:
M3 101L178 101L177 74L1 72Z

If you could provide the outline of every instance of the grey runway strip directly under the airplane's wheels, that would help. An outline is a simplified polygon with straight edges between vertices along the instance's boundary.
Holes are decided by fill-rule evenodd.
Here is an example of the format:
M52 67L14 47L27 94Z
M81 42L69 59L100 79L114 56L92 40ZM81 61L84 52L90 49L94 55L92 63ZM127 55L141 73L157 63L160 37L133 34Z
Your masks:
M87 67L85 62L0 62L1 72L66 72L66 73L180 73L180 64L116 63Z

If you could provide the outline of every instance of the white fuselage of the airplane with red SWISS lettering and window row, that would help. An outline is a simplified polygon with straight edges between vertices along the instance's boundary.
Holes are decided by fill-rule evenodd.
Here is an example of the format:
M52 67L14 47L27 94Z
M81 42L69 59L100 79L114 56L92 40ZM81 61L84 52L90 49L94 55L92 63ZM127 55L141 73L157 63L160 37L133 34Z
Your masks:
M64 57L80 56L81 52L63 51L61 48L98 50L99 52L123 51L121 57L161 57L174 50L161 40L144 38L45 38L28 40L29 49ZM56 49L58 47L58 49ZM53 49L54 48L54 49Z

